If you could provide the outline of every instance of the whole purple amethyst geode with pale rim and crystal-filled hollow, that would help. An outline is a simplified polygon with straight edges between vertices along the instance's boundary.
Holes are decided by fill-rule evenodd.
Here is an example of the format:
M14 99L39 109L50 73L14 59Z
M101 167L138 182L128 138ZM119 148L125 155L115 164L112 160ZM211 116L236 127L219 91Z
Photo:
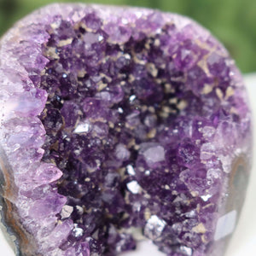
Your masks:
M251 166L226 49L188 18L54 4L1 40L2 220L20 255L221 256ZM14 236L12 236L14 237Z

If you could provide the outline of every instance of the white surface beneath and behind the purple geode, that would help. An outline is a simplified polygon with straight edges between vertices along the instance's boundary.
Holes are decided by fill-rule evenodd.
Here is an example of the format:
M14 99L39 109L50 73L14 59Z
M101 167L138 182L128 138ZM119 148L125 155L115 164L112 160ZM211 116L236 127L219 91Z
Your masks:
M256 125L256 73L245 76L250 104L253 109L253 120ZM253 144L256 147L256 129L254 129ZM254 147L254 149L255 149ZM253 152L253 159L256 158L256 149ZM254 161L254 166L256 162ZM256 255L256 170L254 170L250 178L247 190L247 199L241 218L236 228L235 234L230 242L230 247L225 256L255 256ZM0 231L0 252L3 256L14 256L15 254L9 248ZM164 253L157 251L150 241L144 241L138 244L136 252L124 253L124 256L165 256Z

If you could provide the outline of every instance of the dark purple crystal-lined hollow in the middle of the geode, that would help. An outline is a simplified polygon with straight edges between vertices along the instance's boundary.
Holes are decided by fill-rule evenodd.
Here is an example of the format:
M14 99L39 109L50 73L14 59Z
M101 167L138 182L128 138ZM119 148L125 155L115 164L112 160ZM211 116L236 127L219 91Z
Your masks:
M95 20L88 25L90 15ZM62 20L57 29L49 26L43 46L50 60L40 85L49 93L40 116L47 132L43 160L63 172L58 192L67 196L70 208L59 217L75 224L61 249L87 241L92 254L131 250L136 246L127 231L131 227L143 230L166 253L182 253L181 245L201 249L201 234L189 232L201 222L197 204L208 202L193 197L189 185L203 195L199 187L206 169L198 163L201 144L189 135L195 131L186 127L196 118L212 125L208 118L218 112L218 97L212 91L212 105L207 105L187 88L188 79L195 83L186 73L193 60L178 62L179 51L173 60L158 43L165 45L170 27L155 37L142 34L139 40L113 44L102 22L90 15L78 24ZM190 44L184 47L193 49ZM198 164L200 174L188 177L187 168L193 172ZM181 224L183 230L177 227ZM210 241L207 236L211 232L205 237Z

